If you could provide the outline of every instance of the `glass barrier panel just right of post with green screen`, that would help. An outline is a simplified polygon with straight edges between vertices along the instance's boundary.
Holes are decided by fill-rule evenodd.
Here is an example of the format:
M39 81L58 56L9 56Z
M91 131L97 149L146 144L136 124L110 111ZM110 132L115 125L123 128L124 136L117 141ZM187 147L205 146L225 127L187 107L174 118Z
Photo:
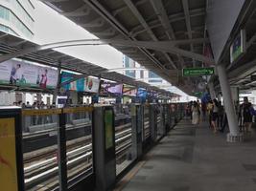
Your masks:
M115 111L116 174L119 175L136 158L132 155L130 105L117 104Z

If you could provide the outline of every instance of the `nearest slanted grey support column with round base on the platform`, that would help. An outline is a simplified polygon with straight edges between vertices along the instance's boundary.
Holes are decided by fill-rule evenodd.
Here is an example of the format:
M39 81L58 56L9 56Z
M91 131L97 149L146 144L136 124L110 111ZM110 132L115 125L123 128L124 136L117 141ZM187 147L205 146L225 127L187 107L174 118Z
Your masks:
M239 132L237 116L235 113L234 104L231 96L230 85L227 80L227 75L225 72L225 67L222 64L217 65L220 84L221 84L221 93L224 100L225 113L228 121L228 126L230 133L227 134L228 142L242 141L243 135Z

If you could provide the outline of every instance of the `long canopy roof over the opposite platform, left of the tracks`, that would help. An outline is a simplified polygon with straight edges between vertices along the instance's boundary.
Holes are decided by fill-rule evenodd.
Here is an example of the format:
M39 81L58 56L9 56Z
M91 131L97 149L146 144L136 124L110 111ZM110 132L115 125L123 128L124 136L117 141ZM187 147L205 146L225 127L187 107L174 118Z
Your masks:
M38 45L33 42L13 36L12 34L6 32L0 32L0 53L2 54L0 55L0 58L3 55L18 53L20 50L36 49L37 47ZM146 88L148 91L157 91L160 95L162 95L162 97L177 96L163 89L151 86L148 83L136 81L127 75L108 71L103 67L83 61L65 53L59 53L58 51L52 49L41 50L35 53L25 53L17 57L51 67L58 68L60 66L60 68L63 70L73 71L84 75L100 76L119 83ZM61 63L61 65L59 65L59 63Z

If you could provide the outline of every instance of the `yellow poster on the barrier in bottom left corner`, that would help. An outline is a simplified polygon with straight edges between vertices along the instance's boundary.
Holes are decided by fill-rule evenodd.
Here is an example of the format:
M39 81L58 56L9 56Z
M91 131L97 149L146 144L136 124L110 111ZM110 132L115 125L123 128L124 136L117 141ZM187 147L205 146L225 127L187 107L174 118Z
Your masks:
M14 118L0 118L1 190L18 190Z

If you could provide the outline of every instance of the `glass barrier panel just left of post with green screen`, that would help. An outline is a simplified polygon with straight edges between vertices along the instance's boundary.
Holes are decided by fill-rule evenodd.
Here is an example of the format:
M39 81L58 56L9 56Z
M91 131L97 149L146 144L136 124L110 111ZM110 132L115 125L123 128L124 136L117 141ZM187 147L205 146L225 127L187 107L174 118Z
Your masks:
M71 186L93 173L92 113L66 114L67 179Z

